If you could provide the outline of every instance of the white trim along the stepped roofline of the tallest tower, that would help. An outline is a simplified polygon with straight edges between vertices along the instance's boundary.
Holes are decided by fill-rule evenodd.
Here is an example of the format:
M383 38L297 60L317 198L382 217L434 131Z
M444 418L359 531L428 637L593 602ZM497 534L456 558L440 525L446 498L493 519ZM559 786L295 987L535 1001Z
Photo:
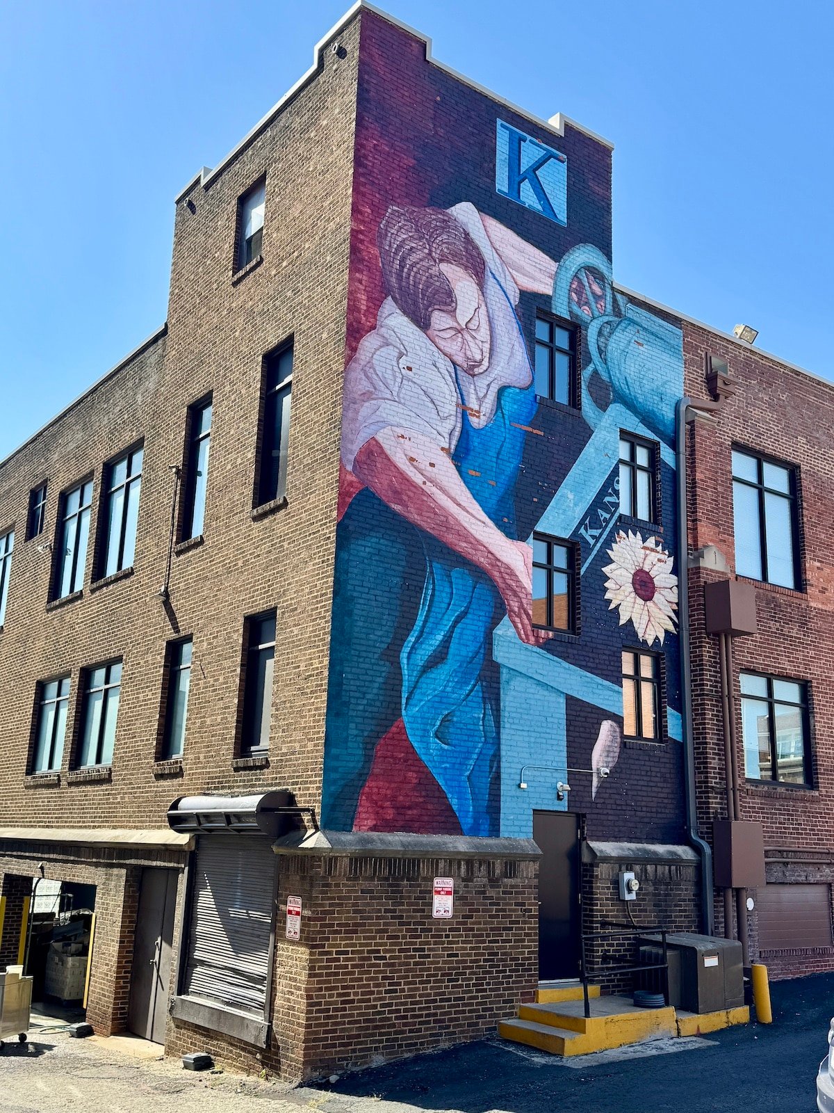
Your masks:
M588 128L583 127L582 124L577 124L576 120L572 120L568 116L565 116L562 112L557 112L555 116L552 116L549 120L545 120L540 116L536 116L535 112L529 112L525 108L519 108L518 105L514 105L512 100L507 100L505 97L499 96L497 92L493 92L493 90L487 89L486 86L479 85L477 81L473 81L471 78L466 77L464 73L459 73L456 69L453 69L451 66L447 66L445 62L438 61L436 58L431 56L431 39L427 35L424 35L416 28L410 27L408 23L404 23L395 16L391 16L389 12L383 11L381 8L377 8L375 4L368 3L367 0L357 0L355 4L348 8L348 10L345 12L341 19L339 19L336 23L334 23L330 30L325 36L322 36L322 38L318 40L318 42L312 49L312 66L310 66L307 72L302 73L301 77L296 81L296 83L290 89L288 89L287 92L285 92L281 99L276 105L274 105L272 108L269 109L266 116L262 116L255 125L255 127L250 128L250 130L247 131L247 134L244 136L240 142L236 144L231 148L229 154L225 158L220 159L220 161L218 162L218 165L215 167L214 170L209 170L208 167L203 166L200 173L196 174L188 183L188 185L183 189L181 189L179 194L177 194L177 196L173 199L175 205L178 205L198 181L200 183L202 188L206 189L218 176L218 174L222 173L222 170L229 165L229 162L231 162L240 154L240 151L244 150L244 148L247 147L252 141L252 139L255 139L266 127L268 127L272 122L275 117L278 116L281 109L290 100L292 100L296 93L298 93L301 89L304 89L304 87L309 81L311 81L314 77L316 77L316 75L319 71L321 52L324 51L325 47L330 41L330 39L332 39L335 35L338 35L339 31L344 30L345 27L347 27L347 24L357 14L357 12L361 11L363 9L373 12L375 16L379 16L381 19L386 20L388 23L391 23L394 27L398 27L400 28L400 30L406 31L408 35L413 35L416 39L419 39L421 42L425 42L427 62L430 62L433 66L436 66L438 69L443 70L445 73L448 73L450 77L456 78L456 80L463 81L464 85L468 85L470 89L475 89L477 92L481 92L484 93L484 96L498 101L499 105L504 105L505 108L509 108L518 116L524 116L532 122L537 124L540 128L545 128L547 131L552 131L554 135L557 135L559 137L563 137L565 135L565 126L567 125L572 128L575 128L577 131L582 131L590 139L596 140L596 142L603 144L609 150L614 149L614 144L610 142L608 139L604 139L595 131L590 131Z

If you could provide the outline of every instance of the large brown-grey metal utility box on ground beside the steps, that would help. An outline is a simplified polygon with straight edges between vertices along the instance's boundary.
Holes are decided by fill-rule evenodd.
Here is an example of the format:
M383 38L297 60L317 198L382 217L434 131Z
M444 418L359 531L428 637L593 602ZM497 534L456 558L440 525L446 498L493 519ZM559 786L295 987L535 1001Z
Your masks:
M654 955L661 951L656 935L648 936L645 942L653 944ZM741 943L682 932L667 935L666 947L669 1004L688 1013L717 1013L725 1008L738 1008L744 1004ZM661 959L655 957L653 961Z

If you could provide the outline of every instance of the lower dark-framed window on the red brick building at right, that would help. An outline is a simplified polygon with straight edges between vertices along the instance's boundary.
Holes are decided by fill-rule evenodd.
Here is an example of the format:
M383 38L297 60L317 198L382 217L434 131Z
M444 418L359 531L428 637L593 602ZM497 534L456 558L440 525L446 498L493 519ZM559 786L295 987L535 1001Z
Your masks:
M745 776L810 785L806 686L753 672L742 672L738 684Z

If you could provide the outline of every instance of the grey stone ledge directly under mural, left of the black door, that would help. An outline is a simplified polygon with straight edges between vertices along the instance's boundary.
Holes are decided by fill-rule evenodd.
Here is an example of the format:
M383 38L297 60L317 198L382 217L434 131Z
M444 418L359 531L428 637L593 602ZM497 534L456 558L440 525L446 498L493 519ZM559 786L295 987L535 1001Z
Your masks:
M272 844L276 854L373 857L538 858L532 838L476 838L468 835L411 835L379 831L291 831Z

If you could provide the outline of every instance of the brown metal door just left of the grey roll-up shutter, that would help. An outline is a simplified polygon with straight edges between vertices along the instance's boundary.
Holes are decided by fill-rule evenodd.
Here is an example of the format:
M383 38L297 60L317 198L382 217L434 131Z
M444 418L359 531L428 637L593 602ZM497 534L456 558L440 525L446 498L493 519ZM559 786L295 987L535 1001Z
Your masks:
M143 869L139 890L128 1027L155 1043L165 1043L168 1020L177 879L176 869Z

